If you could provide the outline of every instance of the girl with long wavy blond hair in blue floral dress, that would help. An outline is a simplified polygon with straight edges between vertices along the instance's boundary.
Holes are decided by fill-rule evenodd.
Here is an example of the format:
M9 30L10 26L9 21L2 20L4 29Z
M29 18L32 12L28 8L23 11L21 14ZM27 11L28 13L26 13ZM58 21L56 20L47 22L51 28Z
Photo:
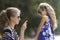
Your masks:
M54 30L57 28L54 9L48 3L40 3L38 13L42 18L35 40L54 40Z

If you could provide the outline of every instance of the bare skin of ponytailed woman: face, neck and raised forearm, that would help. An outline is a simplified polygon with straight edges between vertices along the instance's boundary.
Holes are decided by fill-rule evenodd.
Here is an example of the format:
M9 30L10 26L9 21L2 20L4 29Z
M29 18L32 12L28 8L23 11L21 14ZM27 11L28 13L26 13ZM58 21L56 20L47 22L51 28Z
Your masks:
M20 18L18 18L18 16L20 16L20 12L17 12L15 17L10 17L10 22L9 22L9 26L11 28L14 28L16 24L19 24L19 21L21 20ZM20 30L20 40L24 40L24 32L27 28L27 21L25 21L21 27Z

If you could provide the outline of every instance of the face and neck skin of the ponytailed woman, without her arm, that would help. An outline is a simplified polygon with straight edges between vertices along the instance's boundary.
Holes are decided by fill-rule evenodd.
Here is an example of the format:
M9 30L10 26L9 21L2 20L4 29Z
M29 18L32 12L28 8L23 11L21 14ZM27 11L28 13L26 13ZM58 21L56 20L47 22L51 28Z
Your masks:
M10 22L9 22L9 26L10 27L15 27L16 24L19 24L19 21L21 20L20 18L18 18L18 16L20 16L20 12L17 12L15 17L10 17Z

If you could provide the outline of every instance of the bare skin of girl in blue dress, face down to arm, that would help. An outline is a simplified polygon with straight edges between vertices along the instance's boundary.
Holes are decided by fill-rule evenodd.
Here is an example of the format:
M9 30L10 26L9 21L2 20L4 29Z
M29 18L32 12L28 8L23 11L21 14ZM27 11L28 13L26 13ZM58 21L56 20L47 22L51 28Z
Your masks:
M42 27L43 27L43 24L44 24L45 22L48 22L48 17L47 17L47 15L46 15L46 14L47 14L46 10L44 9L44 11L42 11L42 10L40 9L40 12L41 12L41 14L39 14L39 15L42 17L42 19L41 19L41 22L40 22L40 24L39 24L39 27L37 28L37 34L36 34L34 40L38 40L38 36L39 36L40 31L41 31L41 29L42 29Z

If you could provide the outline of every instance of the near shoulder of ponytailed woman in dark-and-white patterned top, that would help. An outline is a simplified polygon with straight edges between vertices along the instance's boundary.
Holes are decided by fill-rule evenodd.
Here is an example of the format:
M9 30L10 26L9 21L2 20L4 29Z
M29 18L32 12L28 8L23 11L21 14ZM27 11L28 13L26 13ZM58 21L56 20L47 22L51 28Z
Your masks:
M4 40L15 40L13 35L13 31L10 27L5 27L3 30L3 39Z

